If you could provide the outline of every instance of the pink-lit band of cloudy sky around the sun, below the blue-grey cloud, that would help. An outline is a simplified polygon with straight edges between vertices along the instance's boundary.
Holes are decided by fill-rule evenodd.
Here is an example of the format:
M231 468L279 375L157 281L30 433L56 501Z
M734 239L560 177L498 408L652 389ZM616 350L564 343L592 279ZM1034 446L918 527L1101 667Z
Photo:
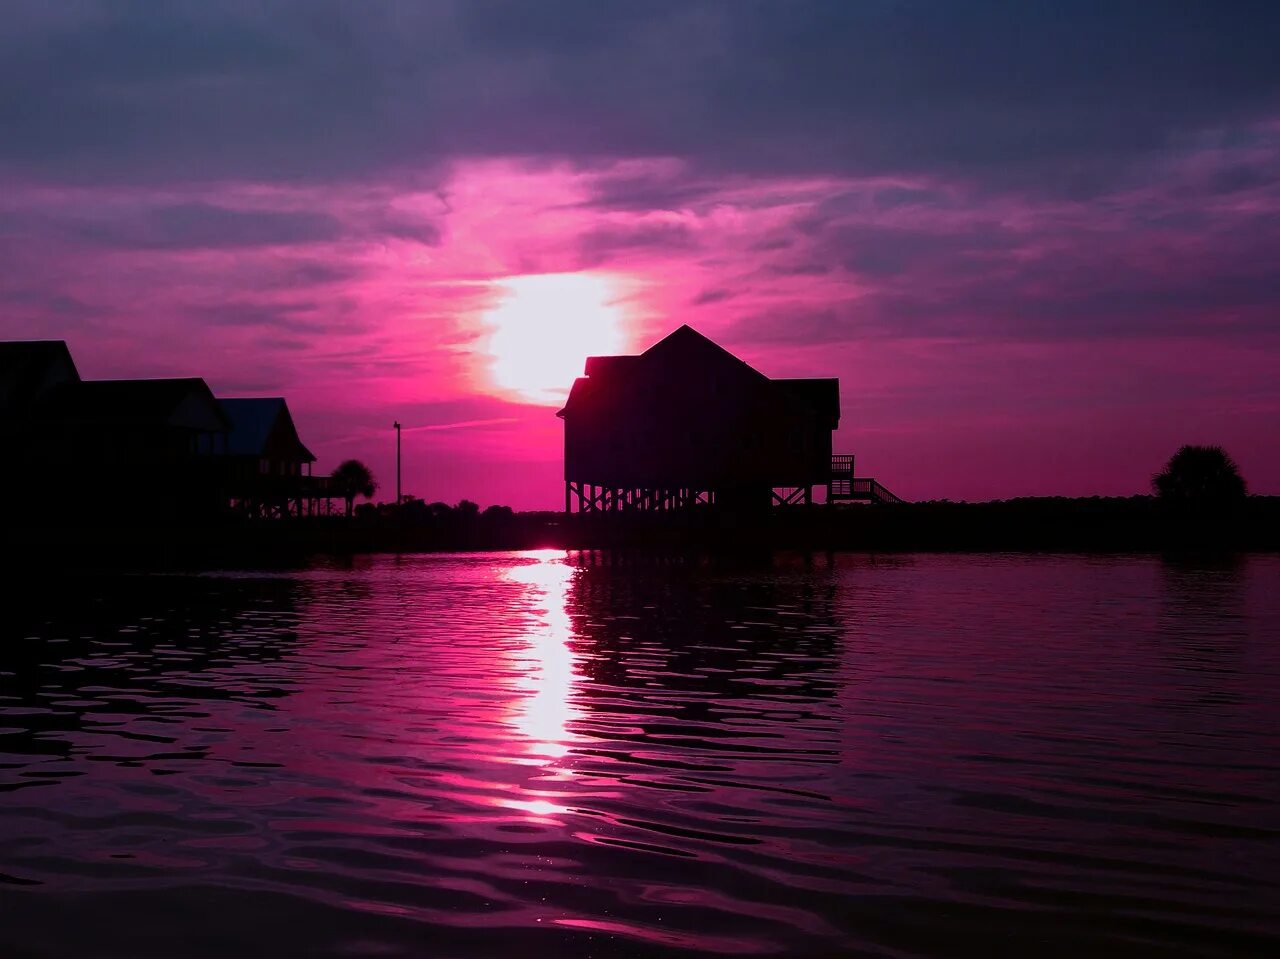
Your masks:
M360 456L384 483L399 419L408 492L554 507L554 405L497 387L486 316L512 277L585 270L625 291L626 348L687 321L771 375L841 376L837 444L911 498L1142 492L1198 440L1280 492L1280 146L1260 137L1087 201L673 159L19 183L0 333L64 337L91 376L284 394L320 469Z

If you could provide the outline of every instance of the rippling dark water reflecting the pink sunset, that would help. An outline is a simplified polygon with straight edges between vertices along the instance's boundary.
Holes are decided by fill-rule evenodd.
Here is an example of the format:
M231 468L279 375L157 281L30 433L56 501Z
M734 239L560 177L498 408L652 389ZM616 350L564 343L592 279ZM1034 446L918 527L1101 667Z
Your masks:
M1280 557L58 589L0 626L6 958L1280 954Z

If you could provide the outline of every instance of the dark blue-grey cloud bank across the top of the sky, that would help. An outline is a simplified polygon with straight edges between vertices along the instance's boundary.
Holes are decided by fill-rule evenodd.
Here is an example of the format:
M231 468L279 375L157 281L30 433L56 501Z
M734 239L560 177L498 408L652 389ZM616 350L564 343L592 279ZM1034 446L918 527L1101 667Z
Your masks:
M1270 0L55 6L0 38L0 163L45 179L676 156L1089 196L1280 96Z

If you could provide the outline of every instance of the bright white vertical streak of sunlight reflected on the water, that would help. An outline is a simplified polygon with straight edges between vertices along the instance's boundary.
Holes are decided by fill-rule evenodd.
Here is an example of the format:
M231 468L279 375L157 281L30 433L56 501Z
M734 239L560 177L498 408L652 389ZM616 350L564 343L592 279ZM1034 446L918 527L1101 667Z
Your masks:
M532 549L521 553L532 562L513 566L506 577L526 585L534 604L534 621L525 636L529 647L516 654L522 666L517 688L526 691L515 707L511 725L527 741L530 762L547 764L570 750L570 721L577 718L573 684L577 670L570 639L567 598L575 570L562 549Z

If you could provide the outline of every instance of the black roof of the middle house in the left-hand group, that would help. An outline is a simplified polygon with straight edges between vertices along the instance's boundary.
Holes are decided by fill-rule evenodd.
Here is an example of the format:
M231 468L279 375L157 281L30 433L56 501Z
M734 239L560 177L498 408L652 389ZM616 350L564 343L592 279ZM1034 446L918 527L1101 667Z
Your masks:
M77 423L175 425L225 430L230 426L209 384L182 379L100 379L68 383L50 392L42 416Z

